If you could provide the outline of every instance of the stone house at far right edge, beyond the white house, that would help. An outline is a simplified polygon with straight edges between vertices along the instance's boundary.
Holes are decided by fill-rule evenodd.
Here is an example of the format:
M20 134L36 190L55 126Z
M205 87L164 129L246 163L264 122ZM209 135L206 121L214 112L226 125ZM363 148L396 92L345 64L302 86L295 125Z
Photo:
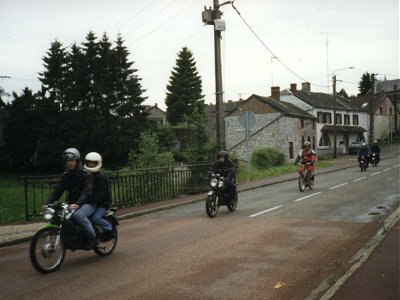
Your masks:
M395 109L394 99L392 101L384 90L381 90L378 94L357 96L350 99L360 111L365 112L369 117L369 142L389 139L396 131L395 111L397 110L398 115L398 109Z

